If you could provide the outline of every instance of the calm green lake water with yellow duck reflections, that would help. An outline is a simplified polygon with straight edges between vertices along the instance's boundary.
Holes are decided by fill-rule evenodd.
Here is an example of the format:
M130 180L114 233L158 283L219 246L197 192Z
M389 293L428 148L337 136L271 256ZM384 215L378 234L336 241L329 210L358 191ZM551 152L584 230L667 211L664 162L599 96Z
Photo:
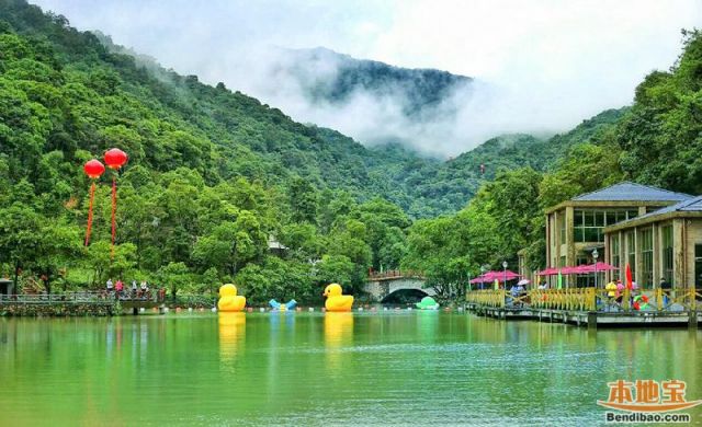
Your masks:
M620 378L702 399L701 342L417 311L0 319L0 425L595 425Z

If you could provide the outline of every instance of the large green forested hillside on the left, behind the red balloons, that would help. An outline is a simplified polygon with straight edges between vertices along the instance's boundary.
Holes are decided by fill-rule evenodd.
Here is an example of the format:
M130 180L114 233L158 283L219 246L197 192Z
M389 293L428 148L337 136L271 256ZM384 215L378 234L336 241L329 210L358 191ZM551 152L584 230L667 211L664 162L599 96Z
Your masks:
M236 279L252 301L269 288L304 300L318 284L356 286L369 267L398 265L409 220L374 198L375 154L363 146L223 84L138 66L24 1L0 1L0 18L1 275L46 288L117 275L173 289ZM114 262L106 185L81 244L81 166L111 147L129 154ZM271 235L290 247L284 261L268 254Z

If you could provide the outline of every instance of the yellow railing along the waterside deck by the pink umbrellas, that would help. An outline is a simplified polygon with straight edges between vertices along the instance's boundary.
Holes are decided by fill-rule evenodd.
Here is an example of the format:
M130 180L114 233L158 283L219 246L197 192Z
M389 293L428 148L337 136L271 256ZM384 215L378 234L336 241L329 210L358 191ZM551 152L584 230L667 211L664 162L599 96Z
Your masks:
M531 289L511 292L485 289L466 292L466 302L491 308L571 311L697 311L702 290L694 288L611 291L596 288Z

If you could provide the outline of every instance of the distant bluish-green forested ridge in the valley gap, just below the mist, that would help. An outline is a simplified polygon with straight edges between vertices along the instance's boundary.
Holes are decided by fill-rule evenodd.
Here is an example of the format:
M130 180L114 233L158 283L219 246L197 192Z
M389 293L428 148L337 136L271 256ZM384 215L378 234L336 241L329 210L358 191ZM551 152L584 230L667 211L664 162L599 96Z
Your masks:
M375 188L412 218L455 212L475 196L480 185L500 172L520 168L552 170L573 147L597 139L614 127L626 109L608 109L548 139L503 135L446 162L419 157L398 145L371 148L377 160L367 163L370 177L375 181Z

